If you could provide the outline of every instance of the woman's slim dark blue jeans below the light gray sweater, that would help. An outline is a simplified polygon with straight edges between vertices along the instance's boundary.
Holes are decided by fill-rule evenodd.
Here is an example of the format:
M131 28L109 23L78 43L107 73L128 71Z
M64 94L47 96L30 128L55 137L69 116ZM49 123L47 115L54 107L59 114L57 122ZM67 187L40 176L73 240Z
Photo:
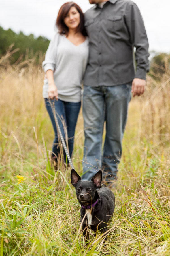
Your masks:
M65 102L62 100L50 100L50 102L52 106L54 103L56 117L58 119L59 127L61 129L61 133L64 139L65 139L64 127L66 127L67 129L68 147L69 147L69 154L71 157L73 152L75 128L76 128L77 118L78 118L78 114L81 107L81 102L76 102L76 103ZM54 138L53 147L52 147L52 156L58 158L59 156L58 133L57 133L56 122L54 119L50 102L49 102L49 99L45 98L46 109L50 116L54 133L55 133L55 138ZM65 152L64 152L64 159L66 160Z

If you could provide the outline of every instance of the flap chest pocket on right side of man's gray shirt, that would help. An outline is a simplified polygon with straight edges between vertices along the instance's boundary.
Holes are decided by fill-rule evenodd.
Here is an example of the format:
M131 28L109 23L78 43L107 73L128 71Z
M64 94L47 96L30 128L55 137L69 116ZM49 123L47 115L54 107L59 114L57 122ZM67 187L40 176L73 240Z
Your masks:
M110 32L121 30L122 24L122 16L109 16L107 18L107 29Z

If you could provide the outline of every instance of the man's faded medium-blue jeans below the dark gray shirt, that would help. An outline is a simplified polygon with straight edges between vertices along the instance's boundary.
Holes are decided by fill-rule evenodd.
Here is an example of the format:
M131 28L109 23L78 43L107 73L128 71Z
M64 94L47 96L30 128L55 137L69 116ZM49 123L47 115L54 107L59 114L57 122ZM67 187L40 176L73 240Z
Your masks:
M90 180L100 168L106 181L116 178L130 100L131 83L118 86L84 86L83 180ZM106 135L102 153L104 121Z

